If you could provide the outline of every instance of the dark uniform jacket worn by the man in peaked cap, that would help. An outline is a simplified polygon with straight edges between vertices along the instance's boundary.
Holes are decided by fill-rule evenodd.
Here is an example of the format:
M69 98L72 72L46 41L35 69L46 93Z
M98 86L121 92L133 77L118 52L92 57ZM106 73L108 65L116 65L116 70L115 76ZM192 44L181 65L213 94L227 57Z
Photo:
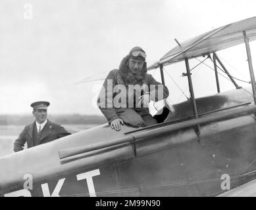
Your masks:
M36 121L30 125L26 125L20 136L14 142L14 152L23 150L24 144L27 142L28 148L37 146L46 142L51 142L57 138L70 135L68 131L61 125L53 123L47 119L47 123L43 127L42 131L38 134L36 127Z

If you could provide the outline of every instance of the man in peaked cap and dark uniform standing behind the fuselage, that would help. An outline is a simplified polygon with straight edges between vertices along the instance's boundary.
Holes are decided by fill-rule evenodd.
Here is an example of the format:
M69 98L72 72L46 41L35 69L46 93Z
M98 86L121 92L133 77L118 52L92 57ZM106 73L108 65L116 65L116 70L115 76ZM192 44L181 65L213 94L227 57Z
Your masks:
M14 142L14 152L23 150L24 144L28 148L51 142L57 138L70 135L64 127L47 119L47 108L50 105L47 101L37 101L30 106L33 108L34 123L26 125L22 133Z

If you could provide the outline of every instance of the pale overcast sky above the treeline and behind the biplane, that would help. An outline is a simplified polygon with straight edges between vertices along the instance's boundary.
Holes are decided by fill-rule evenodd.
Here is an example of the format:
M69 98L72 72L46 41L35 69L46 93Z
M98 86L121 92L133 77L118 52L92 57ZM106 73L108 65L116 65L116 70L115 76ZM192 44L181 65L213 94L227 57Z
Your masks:
M24 18L26 3L32 19ZM146 51L150 64L176 46L174 38L186 41L255 11L255 0L1 0L0 114L31 113L36 100L51 102L51 114L101 114L95 96L103 81L77 81L118 68L134 46ZM251 53L256 68L255 42ZM233 75L249 79L244 45L219 54ZM193 74L195 96L216 93L214 73L203 68ZM180 77L185 65L166 70L189 95L187 79ZM159 72L151 74L159 80ZM171 102L186 100L168 75L166 84ZM220 79L220 88L234 86Z

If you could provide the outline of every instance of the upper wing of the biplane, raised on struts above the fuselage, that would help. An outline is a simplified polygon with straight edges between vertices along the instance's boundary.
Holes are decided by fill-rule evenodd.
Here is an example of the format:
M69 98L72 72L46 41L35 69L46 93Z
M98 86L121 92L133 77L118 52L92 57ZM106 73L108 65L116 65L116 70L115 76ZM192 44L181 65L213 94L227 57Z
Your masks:
M243 43L243 31L246 31L249 41L256 39L256 17L240 20L215 30L208 31L185 41L166 53L159 62L152 64L148 70L184 60L214 53L228 47Z

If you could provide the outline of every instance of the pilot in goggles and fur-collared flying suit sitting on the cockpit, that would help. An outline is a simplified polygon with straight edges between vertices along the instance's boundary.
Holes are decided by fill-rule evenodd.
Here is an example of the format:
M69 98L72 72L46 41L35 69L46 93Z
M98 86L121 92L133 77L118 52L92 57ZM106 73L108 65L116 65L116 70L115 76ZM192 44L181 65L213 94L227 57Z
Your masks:
M148 104L169 95L165 85L147 74L145 58L141 47L132 48L119 68L109 72L97 98L97 106L116 131L120 131L124 123L134 127L156 124Z

